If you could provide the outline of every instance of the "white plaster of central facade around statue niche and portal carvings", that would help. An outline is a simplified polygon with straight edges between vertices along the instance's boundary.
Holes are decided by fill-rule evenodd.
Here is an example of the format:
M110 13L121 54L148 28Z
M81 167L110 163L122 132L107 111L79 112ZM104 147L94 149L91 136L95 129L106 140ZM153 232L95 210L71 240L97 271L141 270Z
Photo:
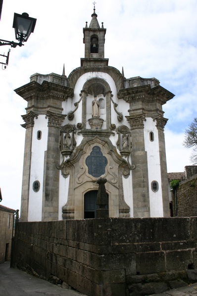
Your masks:
M76 106L74 106L74 103L76 103L80 100L80 98L81 98L80 93L81 93L81 90L83 89L84 84L88 80L93 79L93 78L100 78L108 83L108 85L110 86L110 89L112 91L112 94L113 94L112 99L116 104L118 104L118 106L116 107L116 110L117 110L117 112L123 113L123 120L121 122L119 122L117 119L118 114L114 110L113 103L110 102L110 104L111 104L111 123L115 124L116 127L125 125L130 128L128 121L125 118L126 115L129 115L128 114L129 105L123 99L117 98L117 90L116 90L116 85L114 83L114 80L112 79L112 77L109 74L103 73L103 72L85 73L78 79L78 81L75 85L75 88L74 88L73 98L72 99L68 98L66 101L62 102L63 114L68 114L69 111L75 110ZM100 97L102 97L102 96L99 96L98 99ZM90 102L90 104L91 104L91 106L89 106L89 108L87 108L87 113L90 113L90 114L89 114L89 117L87 116L86 127L91 129L91 127L88 123L88 119L92 117L92 114L91 114L92 102ZM106 103L105 103L105 106L106 106ZM101 111L100 118L104 119L102 129L105 129L106 128L106 111L105 112ZM74 113L74 119L72 121L69 121L67 118L65 118L62 126L66 125L66 124L72 124L72 125L76 126L78 123L81 123L81 122L82 122L82 100L80 101L80 103L78 105L78 109ZM112 144L116 147L116 142L118 139L116 131L114 131L114 135L111 135L109 137L109 139L111 140ZM77 142L77 146L79 146L81 141L83 140L82 134L78 135L77 133L75 133L75 140ZM117 149L117 152L119 153L118 149ZM69 178L65 179L62 176L62 174L60 173L60 178L59 178L59 219L62 219L62 206L64 206L67 201L68 187L69 187ZM123 190L124 190L125 201L130 207L130 215L132 217L133 216L133 196L132 196L133 191L132 191L131 173L127 179L123 178Z

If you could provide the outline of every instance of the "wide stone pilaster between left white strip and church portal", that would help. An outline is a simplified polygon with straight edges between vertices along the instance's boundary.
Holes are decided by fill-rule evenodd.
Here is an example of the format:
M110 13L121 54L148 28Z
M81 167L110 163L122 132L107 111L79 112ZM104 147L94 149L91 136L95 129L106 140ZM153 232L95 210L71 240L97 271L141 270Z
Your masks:
M43 182L43 211L42 220L58 220L59 202L59 170L60 160L59 134L61 123L65 115L47 113L48 118L48 144L45 153L44 182Z

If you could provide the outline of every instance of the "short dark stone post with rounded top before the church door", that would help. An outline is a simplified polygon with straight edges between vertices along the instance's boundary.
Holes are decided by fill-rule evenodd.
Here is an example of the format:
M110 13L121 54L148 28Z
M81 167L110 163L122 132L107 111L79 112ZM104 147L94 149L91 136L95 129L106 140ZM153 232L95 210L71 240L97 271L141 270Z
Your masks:
M109 217L109 209L106 209L108 206L108 198L104 184L106 183L106 178L99 178L97 183L99 184L99 190L97 194L97 205L99 209L97 209L97 218L108 218Z

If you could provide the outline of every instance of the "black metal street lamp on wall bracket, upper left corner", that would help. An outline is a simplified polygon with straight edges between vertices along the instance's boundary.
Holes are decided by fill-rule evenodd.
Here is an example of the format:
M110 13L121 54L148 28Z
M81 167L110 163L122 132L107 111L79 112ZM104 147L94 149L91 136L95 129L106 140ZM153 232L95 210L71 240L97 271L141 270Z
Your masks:
M26 42L30 36L31 33L34 32L34 28L36 25L36 18L29 17L29 14L26 12L23 12L22 14L14 13L14 20L13 20L13 28L15 29L15 37L16 40L19 42L14 42L14 41L7 41L7 40L2 40L0 39L0 46L2 45L11 45L11 47L16 47L24 45L23 42ZM8 65L8 60L9 60L9 52L10 49L7 53L7 55L0 54L0 56L6 57L6 62L0 64L3 65ZM4 69L6 66L4 67Z

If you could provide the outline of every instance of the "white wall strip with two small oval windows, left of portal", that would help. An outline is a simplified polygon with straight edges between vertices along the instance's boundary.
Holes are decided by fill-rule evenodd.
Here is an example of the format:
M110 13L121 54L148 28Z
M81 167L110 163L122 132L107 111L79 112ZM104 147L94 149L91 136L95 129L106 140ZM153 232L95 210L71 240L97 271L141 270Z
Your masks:
M45 116L39 115L38 119L34 119L28 221L42 220L44 158L48 138L48 120ZM37 138L38 130L42 132L40 140ZM38 192L33 190L33 182L36 180L40 182L40 190Z

